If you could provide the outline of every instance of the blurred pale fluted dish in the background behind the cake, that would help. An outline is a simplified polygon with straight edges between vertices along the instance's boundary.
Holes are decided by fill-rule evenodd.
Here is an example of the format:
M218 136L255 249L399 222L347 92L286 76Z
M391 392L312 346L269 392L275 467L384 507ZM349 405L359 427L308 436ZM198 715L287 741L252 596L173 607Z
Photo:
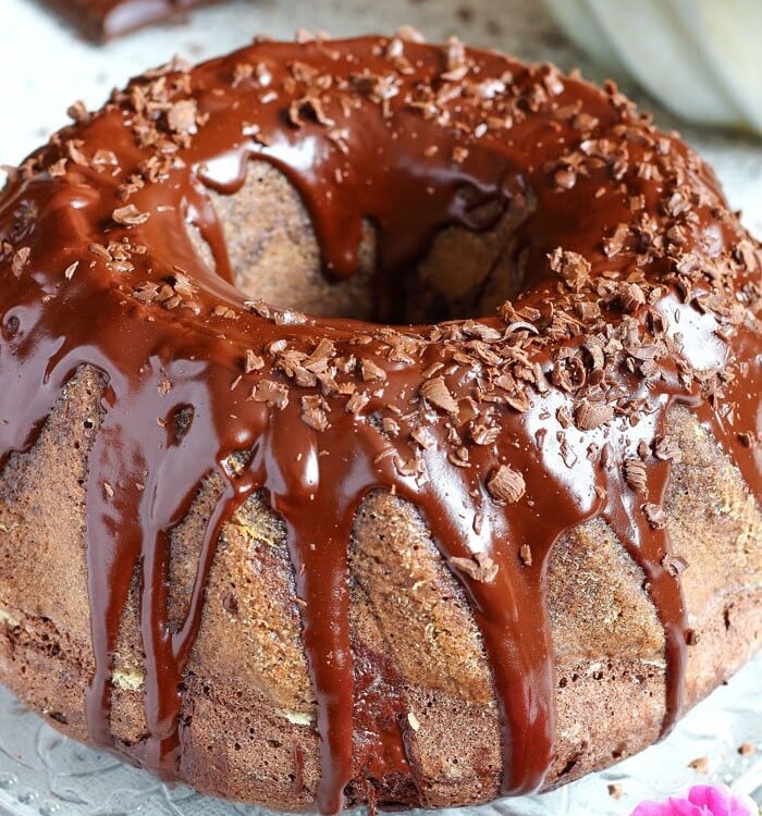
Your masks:
M759 0L549 0L566 32L692 122L762 133Z

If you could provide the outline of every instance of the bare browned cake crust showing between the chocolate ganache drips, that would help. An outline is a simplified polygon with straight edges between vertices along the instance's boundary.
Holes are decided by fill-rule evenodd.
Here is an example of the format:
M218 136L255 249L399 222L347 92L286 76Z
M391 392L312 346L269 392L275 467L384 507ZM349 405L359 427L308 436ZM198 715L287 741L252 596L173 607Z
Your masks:
M389 47L386 40L380 44ZM428 51L421 53L421 59L428 59ZM235 82L243 74L250 78L238 65L256 64L257 55L255 47L251 54L230 58ZM317 59L314 52L299 57ZM511 64L518 70L516 63ZM643 133L650 133L648 127ZM73 135L58 141L71 145ZM86 139L75 145L77 151L90 154L88 147ZM72 148L64 149L71 156ZM45 168L56 158L40 160L42 169L27 168L26 181L48 172ZM53 180L60 177L57 172ZM709 186L701 189L702 195L714 195ZM234 194L206 193L222 231L235 284L249 297L295 312L373 318L374 309L389 298L384 292L376 297L370 294L379 257L378 225L371 225L372 219L364 222L357 273L330 283L321 273L321 246L303 202L304 189L302 193L270 161L250 162ZM14 189L5 194L5 200L13 200L12 195L16 195ZM512 201L486 230L475 233L456 223L438 233L405 281L403 321L490 314L516 295L512 281L520 258L519 227L536 205L526 199L516 203L516 197ZM712 199L712 206L716 223L747 242L743 246L753 246L748 251L757 254L757 245L737 223L727 226L718 198ZM360 213L366 214L373 213ZM127 231L139 226L138 221L127 224ZM0 226L3 223L0 219ZM710 225L706 234L711 232ZM219 264L219 255L212 251L213 235L210 238L208 230L193 225L187 225L187 233L198 262L208 268ZM10 233L0 228L0 237L3 235L10 242ZM19 259L17 243L12 249L15 255L11 258L9 252L9 269L11 264L19 268L28 258L22 254ZM576 262L570 256L567 261ZM724 257L722 262L738 275L734 280L745 281L745 293L750 292L747 277L752 287L759 285L759 265L743 277L740 267L733 268ZM758 255L749 260L752 262L759 263ZM564 274L567 271L562 270ZM71 276L83 273L78 268ZM614 280L613 274L610 277ZM648 290L647 283L641 283ZM741 284L737 285L740 292ZM140 292L136 286L133 294L139 296ZM577 289L580 292L583 289ZM565 304L564 297L560 295L560 302ZM753 323L757 297L743 301L749 312L743 348L759 351L759 329ZM520 304L519 298L516 308ZM151 321L164 320L161 307L150 300L139 308L147 310ZM11 313L8 302L2 310ZM579 309L577 313L583 312ZM199 324L205 320L201 314ZM144 318L140 313L139 320ZM515 314L512 320L521 322ZM542 320L538 317L541 327ZM487 319L484 324L492 325ZM2 354L12 341L8 325L5 320ZM286 324L281 331L291 330ZM740 348L740 341L737 346ZM267 357L263 347L255 351ZM381 358L373 359L386 364ZM237 357L235 360L238 364ZM257 375L249 362L247 357L245 373ZM2 364L0 357L0 376ZM89 548L98 544L88 539L88 503L93 502L90 475L97 467L94 450L113 403L106 369L85 358L78 360L29 444L23 450L9 450L0 477L0 680L57 728L82 740L95 739L93 710L86 704L99 671L93 640L96 613L91 614L97 590L88 552L91 558ZM747 374L748 399L759 406L759 358L750 369L747 363ZM288 388L296 387L280 376ZM558 383L553 385L555 388ZM333 398L323 393L325 399ZM553 393L531 398L548 399L555 410ZM435 403L438 397L432 396ZM737 404L740 406L740 400ZM592 405L599 404L593 400ZM572 416L586 430L580 410L572 405ZM675 401L664 411L663 425L650 437L648 450L623 444L616 450L629 454L614 468L623 473L618 490L627 496L628 491L640 491L638 478L647 478L647 466L651 474L650 468L661 467L660 462L669 465L661 504L649 504L643 512L650 514L653 534L664 535L668 543L667 549L660 551L657 566L679 584L684 602L679 632L686 648L680 673L684 707L692 706L729 677L762 642L762 512L759 481L750 479L751 473L759 477L759 470L750 470L727 438L718 438L718 425L712 424L705 411ZM196 421L188 416L175 415L172 420L177 438L186 433L186 424ZM643 411L627 421L635 426L648 417ZM605 421L611 420L607 416ZM382 424L380 415L369 421L379 424L379 434L394 441L391 425ZM751 426L734 425L746 428L745 449L759 449L755 422L752 417ZM548 424L551 426L550 419ZM591 421L587 430L597 432L599 424ZM563 421L562 425L567 426ZM617 432L625 433L620 428ZM607 438L612 446L618 444L613 432ZM588 442L583 436L582 443L578 449L585 452ZM562 456L566 454L562 452ZM170 530L170 631L182 629L192 608L205 531L224 491L225 473L245 472L251 458L250 450L231 453L224 469L209 470ZM632 465L636 460L642 470L641 465ZM739 462L747 462L743 474ZM335 472L343 478L341 468ZM488 469L483 478L492 472ZM112 497L110 482L98 486ZM322 709L307 656L299 573L290 545L292 521L286 523L282 514L273 511L271 489L270 484L253 486L220 528L213 560L204 578L200 626L182 667L176 721L182 750L173 755L173 776L201 791L276 808L324 807L320 780L325 755L320 745L325 738L321 737ZM641 505L646 507L638 500L637 506ZM546 605L556 716L543 789L605 767L656 740L669 716L669 689L675 683L672 664L676 658L666 641L664 610L654 604L644 571L653 565L641 564L620 540L612 526L618 523L615 515L588 516L563 530L546 554L541 545L542 522L537 521L537 537L517 546L513 554L516 564L526 569L532 568L532 559L534 568L542 559L542 594L537 601ZM474 568L467 568L463 558L443 557L443 544L432 535L423 505L417 506L409 496L383 485L369 491L354 511L346 553L354 716L344 803L440 807L487 802L500 795L507 774L503 692L494 679L470 593L474 582L489 584L493 580L493 576L475 572L477 566L489 570L496 564L499 569L507 569L507 562L495 555L495 564L477 560ZM455 568L458 565L462 569ZM113 750L156 767L150 755L155 727L145 702L151 669L140 628L146 577L139 566L130 573L130 581L111 653L109 727ZM511 725L515 727L516 720ZM159 767L167 774L165 762Z

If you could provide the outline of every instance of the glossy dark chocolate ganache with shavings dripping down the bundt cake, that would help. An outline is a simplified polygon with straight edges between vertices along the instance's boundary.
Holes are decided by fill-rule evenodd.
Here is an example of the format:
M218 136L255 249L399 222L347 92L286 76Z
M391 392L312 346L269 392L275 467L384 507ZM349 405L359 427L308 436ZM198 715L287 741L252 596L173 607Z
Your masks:
M0 198L0 447L3 460L28 450L75 371L102 372L86 500L93 742L118 745L112 658L139 565L149 737L133 759L177 777L180 690L220 531L262 489L287 531L324 813L353 767L415 776L393 670L379 691L353 666L347 549L378 489L418 508L471 604L505 793L540 788L554 757L546 565L586 520L605 520L646 576L667 731L692 636L663 509L679 458L667 409L687 406L762 492L762 256L701 159L614 86L405 32L258 41L71 112ZM210 190L234 194L253 159L300 194L329 281L355 273L372 225L377 322L233 285ZM505 219L511 299L484 316L440 304L429 319L447 320L406 324L440 231ZM170 534L210 473L223 489L172 626ZM353 746L358 689L391 719L368 717Z

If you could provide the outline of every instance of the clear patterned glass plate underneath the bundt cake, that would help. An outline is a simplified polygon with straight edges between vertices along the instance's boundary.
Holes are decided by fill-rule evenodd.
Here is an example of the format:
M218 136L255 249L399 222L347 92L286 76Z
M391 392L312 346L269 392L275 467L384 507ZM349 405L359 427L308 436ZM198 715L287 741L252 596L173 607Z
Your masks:
M741 755L742 743L754 752ZM708 772L689 763L705 757ZM690 712L675 731L609 770L539 796L440 816L626 816L643 799L725 782L762 804L762 653ZM614 799L609 786L619 786ZM268 816L168 788L146 771L62 737L0 687L0 813L12 816Z

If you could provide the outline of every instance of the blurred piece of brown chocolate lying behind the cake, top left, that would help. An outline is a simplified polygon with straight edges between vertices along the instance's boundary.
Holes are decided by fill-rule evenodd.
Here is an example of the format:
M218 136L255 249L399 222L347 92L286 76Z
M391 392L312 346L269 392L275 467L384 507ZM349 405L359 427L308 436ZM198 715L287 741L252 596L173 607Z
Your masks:
M169 22L184 11L218 0L41 0L97 42Z

